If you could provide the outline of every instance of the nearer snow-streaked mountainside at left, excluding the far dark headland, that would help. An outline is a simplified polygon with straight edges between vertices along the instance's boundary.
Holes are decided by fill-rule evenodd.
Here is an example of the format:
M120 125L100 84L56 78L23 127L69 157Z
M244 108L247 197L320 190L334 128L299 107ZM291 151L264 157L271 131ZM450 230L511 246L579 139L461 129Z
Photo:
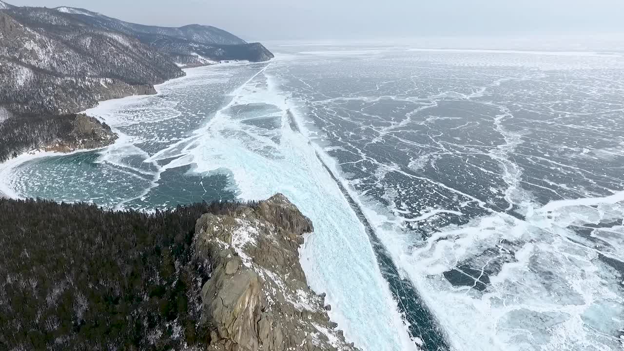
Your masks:
M137 39L26 7L0 13L0 67L0 101L17 113L79 112L111 87L123 96L183 76L168 56Z

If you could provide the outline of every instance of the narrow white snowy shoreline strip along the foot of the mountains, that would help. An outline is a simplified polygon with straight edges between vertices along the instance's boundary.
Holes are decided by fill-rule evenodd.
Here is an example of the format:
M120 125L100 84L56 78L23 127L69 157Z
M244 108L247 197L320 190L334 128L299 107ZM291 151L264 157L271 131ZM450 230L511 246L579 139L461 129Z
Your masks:
M263 61L263 62L270 62L270 61ZM79 114L85 114L89 117L94 117L95 119L97 119L100 122L105 122L106 124L108 124L111 127L111 130L117 134L117 136L119 137L113 144L110 144L109 146L105 146L105 147L98 147L95 149L77 149L71 152L52 152L52 151L43 151L41 149L33 149L30 151L26 151L26 152L22 152L22 154L19 154L17 157L13 157L12 159L8 159L7 161L4 162L0 162L0 199L1 198L7 198L7 199L26 199L25 197L21 197L19 196L16 191L14 189L12 189L9 185L9 179L10 179L10 172L12 169L14 169L17 166L20 166L21 164L24 164L26 162L29 161L33 161L36 159L41 159L42 157L54 157L54 156L69 156L72 154L79 154L82 152L92 152L92 151L98 151L98 150L104 150L107 149L108 147L112 147L115 145L118 145L120 142L127 140L126 138L124 138L124 134L120 133L118 129L116 129L115 127L111 126L109 121L107 121L104 118L98 117L98 116L92 116L89 114L89 111L92 109L97 108L98 106L100 106L100 104L102 103L106 103L106 102L112 102L112 101L120 101L120 100L124 100L124 99L144 99L150 96L158 96L160 94L162 94L162 92L160 91L160 89L158 89L158 87L163 86L164 84L170 84L172 82L178 81L178 80L182 80L182 79L187 79L190 77L193 77L193 72L194 71L199 71L200 69L203 69L205 67L217 67L217 66L237 66L237 65L247 65L247 64L256 64L256 63L263 63L263 62L223 62L223 63L219 63L219 64L210 64L210 65L205 65L205 66L198 66L198 67L188 67L188 68L183 68L182 71L185 73L184 76L182 77L177 77L177 78L172 78L169 79L168 81L164 81L160 84L157 84L154 86L154 89L156 91L156 94L141 94L141 95L130 95L130 96L125 96L125 97L119 97L117 99L108 99L108 100L102 100L102 101L98 101L97 105L89 107L88 109L85 109L84 111L78 112Z

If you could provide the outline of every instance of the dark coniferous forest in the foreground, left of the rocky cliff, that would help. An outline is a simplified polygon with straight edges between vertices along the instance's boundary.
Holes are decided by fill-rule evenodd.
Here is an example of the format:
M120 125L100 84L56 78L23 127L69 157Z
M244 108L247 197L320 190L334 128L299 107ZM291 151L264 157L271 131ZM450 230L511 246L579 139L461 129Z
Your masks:
M235 204L146 214L0 199L1 350L180 350L205 342L195 222Z

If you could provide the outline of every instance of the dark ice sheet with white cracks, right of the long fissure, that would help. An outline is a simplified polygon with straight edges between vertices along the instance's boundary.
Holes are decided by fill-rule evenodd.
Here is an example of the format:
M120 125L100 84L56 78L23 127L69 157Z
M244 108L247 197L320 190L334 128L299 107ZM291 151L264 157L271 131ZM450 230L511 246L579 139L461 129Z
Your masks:
M453 349L621 348L621 55L298 50L284 89Z

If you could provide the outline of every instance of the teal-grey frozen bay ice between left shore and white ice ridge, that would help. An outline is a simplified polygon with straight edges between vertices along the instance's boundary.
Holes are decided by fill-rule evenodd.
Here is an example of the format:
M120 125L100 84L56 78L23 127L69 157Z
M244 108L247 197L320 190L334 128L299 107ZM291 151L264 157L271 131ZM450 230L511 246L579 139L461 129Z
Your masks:
M119 134L113 146L12 167L5 185L15 195L97 202L118 209L234 199L227 172L197 175L181 167L188 164L184 160L145 161L202 126L227 103L226 94L258 69L253 64L191 69L187 77L157 86L157 96L101 102L87 114L103 119Z

